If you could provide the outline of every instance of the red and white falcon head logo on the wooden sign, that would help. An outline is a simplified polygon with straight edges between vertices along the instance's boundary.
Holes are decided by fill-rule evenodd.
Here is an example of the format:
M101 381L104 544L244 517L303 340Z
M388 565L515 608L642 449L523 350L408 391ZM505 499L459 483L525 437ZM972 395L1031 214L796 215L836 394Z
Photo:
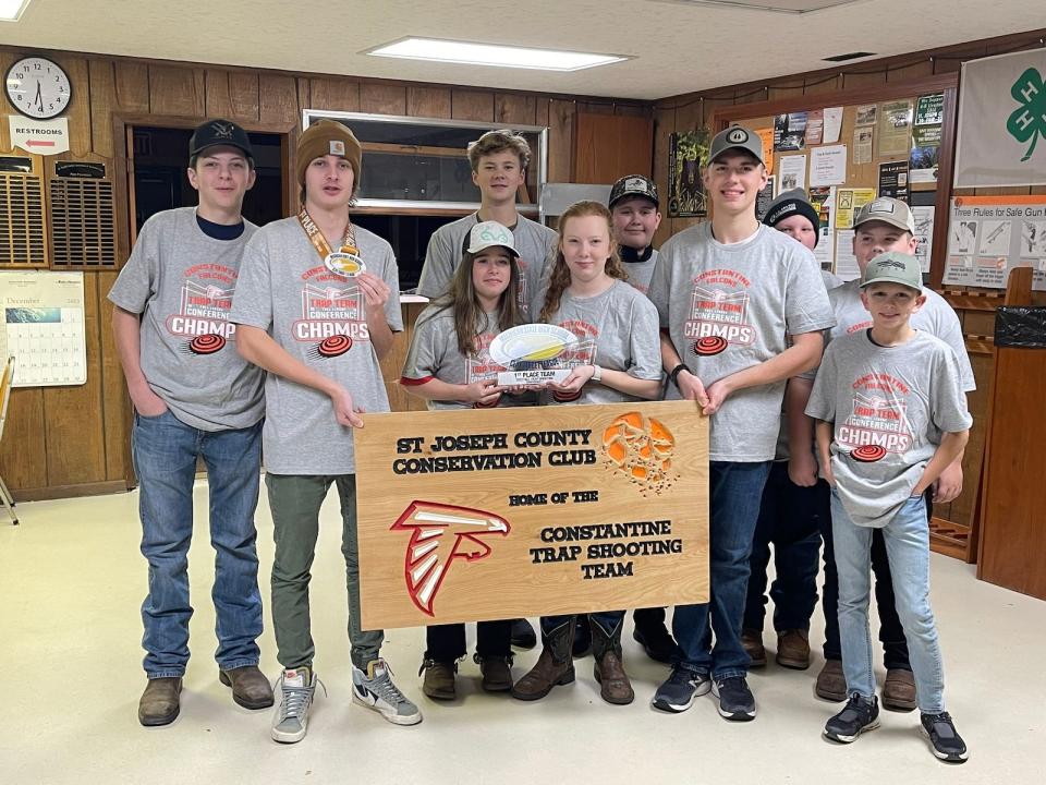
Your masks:
M434 502L412 502L391 531L409 531L403 577L411 600L422 613L435 616L436 594L455 559L478 561L490 555L481 538L507 536L509 522L492 512Z

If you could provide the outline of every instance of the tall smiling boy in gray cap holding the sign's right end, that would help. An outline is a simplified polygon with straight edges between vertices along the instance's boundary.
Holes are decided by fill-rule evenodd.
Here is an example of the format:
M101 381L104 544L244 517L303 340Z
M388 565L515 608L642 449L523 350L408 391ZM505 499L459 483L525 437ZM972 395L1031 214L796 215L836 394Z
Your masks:
M703 173L711 220L665 243L648 293L660 314L667 397L696 400L711 416L711 596L676 608L681 654L654 706L684 711L711 689L719 713L737 721L756 711L741 617L784 382L817 362L820 330L834 324L813 254L755 217L766 180L758 134L740 125L717 134Z

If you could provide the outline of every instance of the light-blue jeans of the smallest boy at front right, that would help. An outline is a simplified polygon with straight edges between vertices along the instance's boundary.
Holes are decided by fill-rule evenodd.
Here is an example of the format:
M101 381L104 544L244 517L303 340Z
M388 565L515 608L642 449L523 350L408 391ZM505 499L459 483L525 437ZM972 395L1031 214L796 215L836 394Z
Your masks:
M868 631L872 534L868 527L850 520L839 496L831 494L831 528L839 571L839 636L847 691L865 698L875 695L872 671L872 635ZM915 699L921 712L945 711L945 669L937 642L937 626L929 606L929 526L922 496L908 499L883 527L883 539L893 575L893 594L915 677Z

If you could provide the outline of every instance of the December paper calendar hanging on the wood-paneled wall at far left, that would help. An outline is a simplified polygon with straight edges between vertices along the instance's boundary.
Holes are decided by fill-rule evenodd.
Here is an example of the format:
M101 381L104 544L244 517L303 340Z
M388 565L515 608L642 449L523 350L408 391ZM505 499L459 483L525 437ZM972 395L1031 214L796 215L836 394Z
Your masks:
M0 358L12 354L15 387L87 382L83 273L0 273Z

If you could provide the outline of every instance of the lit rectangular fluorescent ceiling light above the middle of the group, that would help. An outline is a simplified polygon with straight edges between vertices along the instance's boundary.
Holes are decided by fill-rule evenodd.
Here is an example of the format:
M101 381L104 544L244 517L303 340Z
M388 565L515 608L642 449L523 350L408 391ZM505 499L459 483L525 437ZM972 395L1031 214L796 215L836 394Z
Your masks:
M436 62L467 63L471 65L497 65L499 68L538 69L542 71L581 71L596 65L607 65L628 60L618 55L591 55L587 52L557 51L555 49L526 49L496 44L470 44L467 41L441 40L438 38L403 38L365 55L404 58L406 60L435 60Z

